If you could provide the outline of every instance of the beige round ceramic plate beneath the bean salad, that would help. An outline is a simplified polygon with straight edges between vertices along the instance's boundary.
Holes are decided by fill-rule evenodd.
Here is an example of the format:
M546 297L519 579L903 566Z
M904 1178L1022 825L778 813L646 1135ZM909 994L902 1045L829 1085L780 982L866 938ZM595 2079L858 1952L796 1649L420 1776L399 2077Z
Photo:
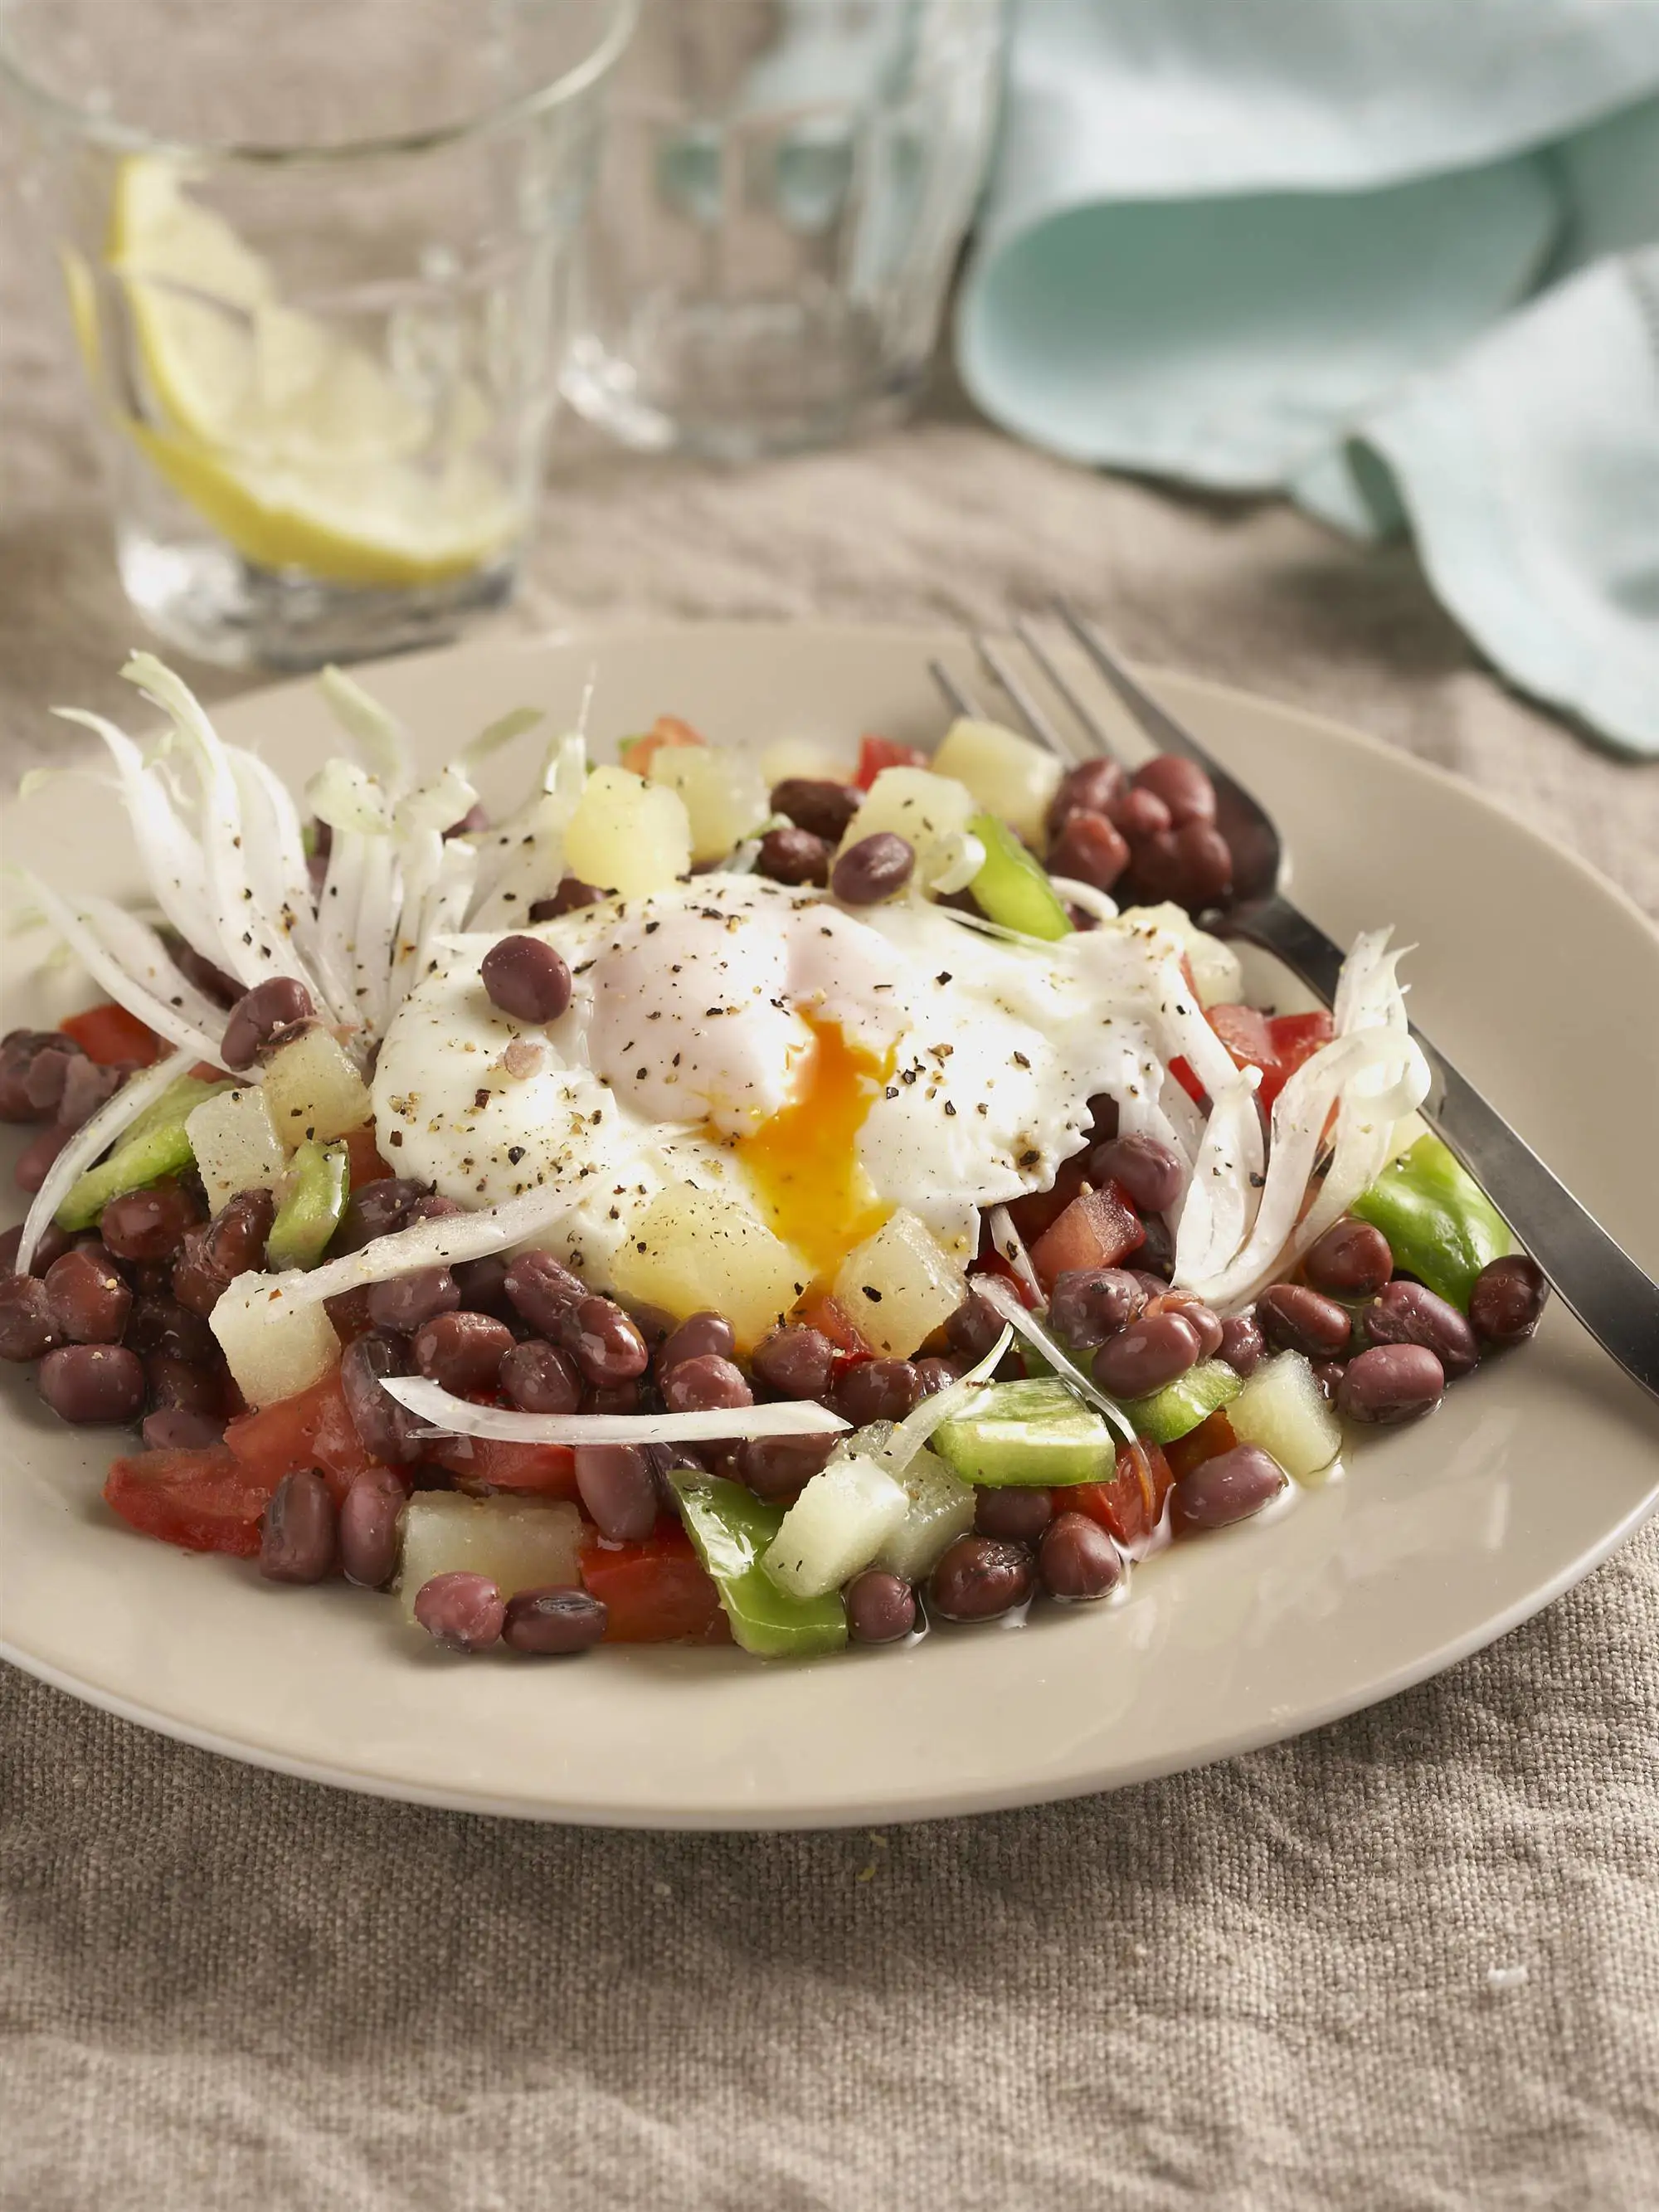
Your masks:
M571 714L588 670L602 739L677 712L728 741L927 743L933 653L967 672L960 639L918 630L659 626L480 644L367 681L434 759L524 701ZM1659 1095L1659 1024L1641 1011L1659 1006L1659 938L1635 907L1383 745L1217 686L1159 688L1274 807L1318 920L1343 940L1398 925L1422 1024L1659 1267L1659 1181L1637 1152ZM219 719L296 781L332 750L310 688ZM84 785L53 785L27 821L31 854L137 889L113 807ZM15 951L11 969L4 1026L66 1011L62 975L15 971ZM1551 1310L1433 1420L1365 1442L1287 1515L1139 1568L1128 1604L803 1668L672 1648L531 1666L453 1661L387 1601L272 1588L133 1535L97 1498L108 1433L60 1427L22 1374L0 1389L0 1650L18 1666L290 1774L646 1827L975 1812L1290 1736L1526 1619L1637 1526L1659 1482L1659 1413Z

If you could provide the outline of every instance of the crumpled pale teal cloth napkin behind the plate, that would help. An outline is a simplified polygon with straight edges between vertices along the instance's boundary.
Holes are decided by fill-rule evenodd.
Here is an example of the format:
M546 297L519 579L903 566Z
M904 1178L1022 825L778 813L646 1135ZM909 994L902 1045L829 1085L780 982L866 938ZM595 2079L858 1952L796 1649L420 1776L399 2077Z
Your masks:
M956 343L1075 460L1409 526L1659 754L1659 0L1024 0Z

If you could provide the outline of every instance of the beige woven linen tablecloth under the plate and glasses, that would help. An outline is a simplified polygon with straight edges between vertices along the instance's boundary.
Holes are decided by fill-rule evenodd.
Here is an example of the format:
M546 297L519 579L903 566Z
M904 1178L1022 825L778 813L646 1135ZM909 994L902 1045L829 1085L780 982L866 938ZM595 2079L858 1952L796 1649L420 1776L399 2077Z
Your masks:
M133 622L60 356L0 305L9 787L46 701L131 706ZM1057 586L1473 776L1659 909L1659 768L1509 699L1405 553L949 405L748 476L577 458L515 619L995 619ZM883 1836L387 1805L0 1670L0 2208L1659 2203L1657 1630L1648 1533L1338 1728Z

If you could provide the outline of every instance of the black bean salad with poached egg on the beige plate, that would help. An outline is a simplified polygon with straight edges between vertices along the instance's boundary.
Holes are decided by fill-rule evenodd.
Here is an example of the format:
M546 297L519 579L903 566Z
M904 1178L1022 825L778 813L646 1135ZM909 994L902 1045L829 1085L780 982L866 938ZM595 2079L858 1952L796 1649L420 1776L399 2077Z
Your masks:
M330 670L301 805L126 675L153 909L18 872L106 998L0 1040L0 1356L137 1431L144 1535L462 1652L898 1646L1121 1599L1537 1325L1387 933L1305 1013L1201 927L1190 761L661 717L487 818L535 712L422 776Z

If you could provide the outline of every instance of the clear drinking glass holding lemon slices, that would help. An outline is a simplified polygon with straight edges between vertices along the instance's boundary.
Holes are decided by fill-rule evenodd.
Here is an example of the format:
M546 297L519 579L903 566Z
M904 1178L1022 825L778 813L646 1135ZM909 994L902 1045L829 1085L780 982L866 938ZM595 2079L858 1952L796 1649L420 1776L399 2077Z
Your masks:
M128 597L228 666L513 591L635 0L0 0Z

